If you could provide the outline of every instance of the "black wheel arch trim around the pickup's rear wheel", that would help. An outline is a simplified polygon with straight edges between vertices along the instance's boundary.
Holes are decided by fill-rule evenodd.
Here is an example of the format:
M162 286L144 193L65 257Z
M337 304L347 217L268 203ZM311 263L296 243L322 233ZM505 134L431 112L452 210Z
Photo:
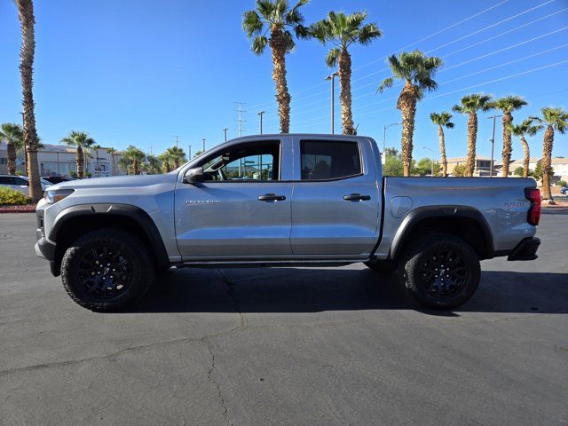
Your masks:
M418 235L450 233L467 241L479 259L494 256L493 234L481 212L469 206L427 206L412 210L392 240L388 259L397 260Z

